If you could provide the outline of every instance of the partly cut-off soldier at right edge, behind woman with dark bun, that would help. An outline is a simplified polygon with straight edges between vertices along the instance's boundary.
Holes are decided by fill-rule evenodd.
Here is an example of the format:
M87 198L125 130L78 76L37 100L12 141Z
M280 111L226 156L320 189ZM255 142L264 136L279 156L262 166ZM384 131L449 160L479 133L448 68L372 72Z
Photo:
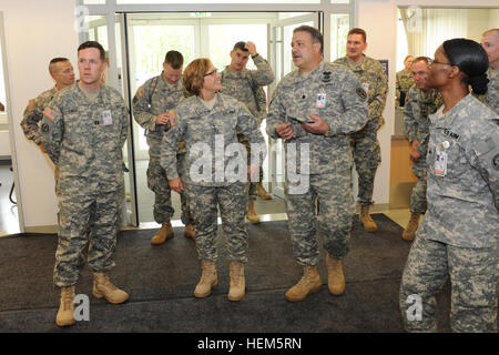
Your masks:
M482 101L499 114L499 29L483 32L481 47L487 52L490 65L487 71L488 90Z

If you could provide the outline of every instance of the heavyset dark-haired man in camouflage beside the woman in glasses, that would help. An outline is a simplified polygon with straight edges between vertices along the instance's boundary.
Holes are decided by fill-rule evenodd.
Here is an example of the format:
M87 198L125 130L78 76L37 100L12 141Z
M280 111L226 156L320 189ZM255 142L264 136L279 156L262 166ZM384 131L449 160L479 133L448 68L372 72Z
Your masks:
M293 31L292 55L298 70L279 82L267 115L267 134L285 140L288 227L304 272L286 292L291 302L302 301L322 286L318 235L324 236L327 252L329 292L340 295L345 291L342 258L348 253L355 214L347 134L360 130L369 119L367 93L358 79L342 65L325 63L322 51L323 36L317 29L302 26ZM302 123L310 119L313 123ZM289 169L297 156L298 174L306 182L297 183L296 172Z

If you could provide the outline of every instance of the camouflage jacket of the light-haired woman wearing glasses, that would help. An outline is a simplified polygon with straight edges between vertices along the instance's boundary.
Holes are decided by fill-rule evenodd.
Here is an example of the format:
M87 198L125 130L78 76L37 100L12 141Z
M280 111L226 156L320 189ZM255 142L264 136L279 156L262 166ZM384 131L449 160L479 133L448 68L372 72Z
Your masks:
M237 141L236 131L249 140L252 154L259 159L256 164L262 164L266 156L256 119L234 98L218 93L215 105L208 110L198 97L191 97L179 104L175 113L177 122L164 134L161 145L161 166L169 180L179 178L174 146L181 140L187 151L186 182L195 185L223 186L234 183L232 178L247 181L246 149ZM244 169L234 169L237 163ZM240 175L230 176L234 171Z

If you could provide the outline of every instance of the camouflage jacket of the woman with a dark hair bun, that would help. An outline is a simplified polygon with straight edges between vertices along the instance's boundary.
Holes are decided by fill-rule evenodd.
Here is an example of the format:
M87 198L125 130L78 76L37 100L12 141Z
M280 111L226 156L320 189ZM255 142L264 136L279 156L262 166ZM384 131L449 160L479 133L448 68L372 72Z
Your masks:
M421 227L446 244L491 247L499 231L499 116L470 94L447 113L442 109L430 115Z

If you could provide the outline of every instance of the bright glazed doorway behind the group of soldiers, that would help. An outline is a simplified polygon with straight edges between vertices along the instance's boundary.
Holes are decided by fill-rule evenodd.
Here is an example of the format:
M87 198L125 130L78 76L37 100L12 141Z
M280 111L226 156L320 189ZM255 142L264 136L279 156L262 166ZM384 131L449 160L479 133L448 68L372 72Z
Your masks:
M109 19L90 17L88 39L101 42L104 49L108 38L115 38L118 85L125 101L131 100L138 88L146 80L161 74L164 55L169 50L177 50L184 55L185 65L195 58L210 58L214 65L223 70L230 64L230 52L237 41L253 41L258 53L273 67L275 81L265 88L267 98L279 80L295 69L291 57L291 39L294 28L309 24L324 27L322 11L313 12L126 12L116 13L115 31L108 33ZM330 52L339 54L349 26L349 14L330 18ZM345 39L343 39L345 37ZM249 60L248 69L256 69ZM112 73L111 73L112 74ZM144 130L131 119L132 134L124 149L129 173L125 183L126 224L141 225L153 222L154 195L146 186L145 172L149 163L149 146ZM268 139L265 121L262 133L266 140L268 155L264 161L264 185L274 200L282 202L282 209L274 206L258 213L281 213L284 207L284 149L281 140ZM126 176L125 176L126 178ZM179 196L172 195L174 207ZM174 220L180 220L175 207ZM278 210L278 211L273 211Z

